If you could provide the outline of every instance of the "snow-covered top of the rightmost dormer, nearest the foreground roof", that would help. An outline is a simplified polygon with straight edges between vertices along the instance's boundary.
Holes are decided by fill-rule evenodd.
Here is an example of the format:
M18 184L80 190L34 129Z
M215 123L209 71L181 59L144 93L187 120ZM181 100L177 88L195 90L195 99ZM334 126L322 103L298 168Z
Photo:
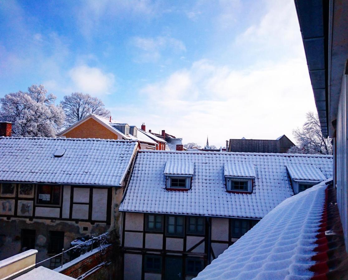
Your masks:
M286 168L293 180L323 181L325 176L320 169L311 164L287 164Z

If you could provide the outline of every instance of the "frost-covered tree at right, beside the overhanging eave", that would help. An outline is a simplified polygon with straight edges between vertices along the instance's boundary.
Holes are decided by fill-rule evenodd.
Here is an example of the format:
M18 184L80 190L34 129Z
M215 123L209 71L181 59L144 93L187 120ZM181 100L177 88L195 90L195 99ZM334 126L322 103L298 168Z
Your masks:
M317 114L308 112L302 129L294 129L292 134L298 145L292 146L288 153L332 155L331 139L324 138Z

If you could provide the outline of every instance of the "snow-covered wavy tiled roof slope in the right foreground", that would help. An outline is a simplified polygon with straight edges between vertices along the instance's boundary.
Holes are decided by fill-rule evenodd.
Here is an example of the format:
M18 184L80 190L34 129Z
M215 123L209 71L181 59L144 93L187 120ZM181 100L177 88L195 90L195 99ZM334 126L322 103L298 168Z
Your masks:
M322 182L284 200L195 279L310 279L326 189Z

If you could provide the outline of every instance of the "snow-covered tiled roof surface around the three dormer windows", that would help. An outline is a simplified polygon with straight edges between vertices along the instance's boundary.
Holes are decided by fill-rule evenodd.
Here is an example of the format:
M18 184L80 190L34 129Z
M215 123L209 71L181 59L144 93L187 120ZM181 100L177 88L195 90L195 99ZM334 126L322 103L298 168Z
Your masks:
M166 190L167 162L192 162L191 189ZM251 194L226 191L225 163L254 166ZM226 153L204 151L139 151L120 211L262 218L294 195L286 165L311 164L332 176L332 156Z

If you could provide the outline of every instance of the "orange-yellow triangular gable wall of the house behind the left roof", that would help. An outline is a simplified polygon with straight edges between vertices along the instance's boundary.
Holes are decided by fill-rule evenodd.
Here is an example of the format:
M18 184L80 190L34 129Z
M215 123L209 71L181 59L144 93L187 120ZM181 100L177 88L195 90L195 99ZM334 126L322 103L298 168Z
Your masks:
M108 130L93 118L84 121L72 130L64 133L62 136L67 138L100 138L100 139L122 139L121 137Z

